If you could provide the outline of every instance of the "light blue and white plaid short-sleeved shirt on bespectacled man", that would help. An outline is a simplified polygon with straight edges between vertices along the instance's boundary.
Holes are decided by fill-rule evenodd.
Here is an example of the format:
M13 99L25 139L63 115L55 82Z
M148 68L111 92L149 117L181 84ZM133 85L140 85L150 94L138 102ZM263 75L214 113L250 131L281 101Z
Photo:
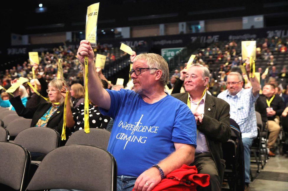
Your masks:
M254 97L252 88L241 89L235 96L231 95L226 89L218 96L230 104L230 118L234 119L239 125L242 138L257 137L257 121L255 114L255 102L259 94Z

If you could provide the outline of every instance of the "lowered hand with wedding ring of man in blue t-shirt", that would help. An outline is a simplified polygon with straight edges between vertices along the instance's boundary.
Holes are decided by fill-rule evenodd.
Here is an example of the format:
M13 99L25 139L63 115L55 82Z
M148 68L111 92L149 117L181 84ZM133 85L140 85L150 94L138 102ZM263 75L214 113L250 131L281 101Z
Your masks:
M135 191L150 191L159 182L161 182L161 174L156 167L152 167L143 172L136 180L134 185ZM148 185L147 185L148 184Z

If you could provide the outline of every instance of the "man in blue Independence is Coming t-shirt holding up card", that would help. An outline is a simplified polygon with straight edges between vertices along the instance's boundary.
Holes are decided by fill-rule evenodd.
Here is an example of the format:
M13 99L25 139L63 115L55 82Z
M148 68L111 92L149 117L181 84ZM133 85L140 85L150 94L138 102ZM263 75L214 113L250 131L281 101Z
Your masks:
M102 88L89 41L81 41L78 55L82 64L89 59L89 99L114 119L107 150L117 162L117 190L152 190L168 173L194 161L195 118L186 104L164 92L169 70L163 57L132 55L135 92L116 92Z

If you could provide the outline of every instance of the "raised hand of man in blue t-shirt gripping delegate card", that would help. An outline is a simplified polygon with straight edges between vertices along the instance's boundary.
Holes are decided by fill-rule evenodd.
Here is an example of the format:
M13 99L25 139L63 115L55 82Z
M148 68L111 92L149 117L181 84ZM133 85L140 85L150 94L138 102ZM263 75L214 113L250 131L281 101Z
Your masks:
M80 46L77 51L77 57L80 60L81 64L83 65L84 65L84 57L88 57L88 64L93 63L94 52L88 40L81 40Z

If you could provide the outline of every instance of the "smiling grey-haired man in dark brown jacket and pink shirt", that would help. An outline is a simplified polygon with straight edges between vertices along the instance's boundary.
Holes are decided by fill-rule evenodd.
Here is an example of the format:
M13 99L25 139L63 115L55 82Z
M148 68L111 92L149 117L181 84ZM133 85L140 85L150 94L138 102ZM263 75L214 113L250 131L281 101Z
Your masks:
M231 135L230 106L222 99L207 94L209 70L201 64L193 64L182 70L179 81L182 84L184 81L188 93L171 96L187 104L197 122L197 148L191 165L195 165L199 173L210 175L210 185L199 190L220 191L224 173L221 143L226 142Z

